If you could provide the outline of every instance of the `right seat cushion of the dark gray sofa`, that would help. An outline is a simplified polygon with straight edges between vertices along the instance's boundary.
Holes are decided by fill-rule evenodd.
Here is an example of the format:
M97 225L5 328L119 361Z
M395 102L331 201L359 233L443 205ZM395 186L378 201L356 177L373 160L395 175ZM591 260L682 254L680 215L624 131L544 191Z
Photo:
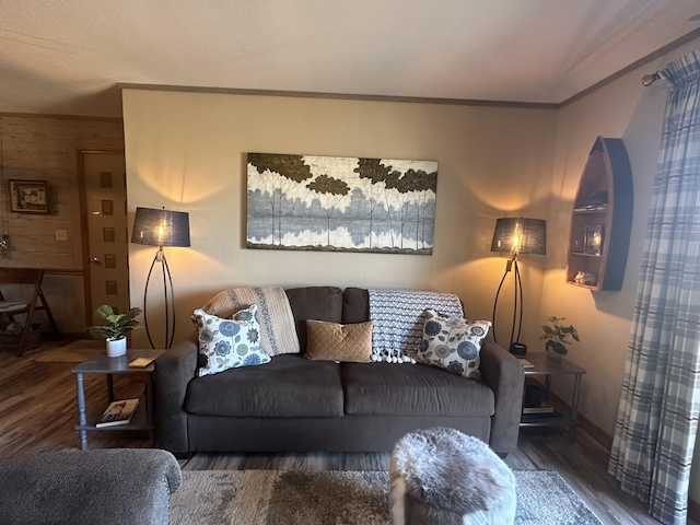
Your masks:
M493 390L422 364L341 363L346 413L493 416Z

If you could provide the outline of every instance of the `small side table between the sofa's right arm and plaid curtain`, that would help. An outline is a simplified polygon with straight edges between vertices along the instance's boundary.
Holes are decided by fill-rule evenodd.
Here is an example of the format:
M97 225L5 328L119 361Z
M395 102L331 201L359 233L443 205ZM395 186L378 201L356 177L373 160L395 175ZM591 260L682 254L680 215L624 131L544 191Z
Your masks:
M532 369L524 369L525 378L528 376L545 376L545 399L549 400L552 375L569 375L574 380L573 395L571 398L571 409L557 407L560 411L558 416L552 415L523 415L521 427L569 427L569 441L576 438L576 427L579 425L579 396L581 394L581 377L586 373L585 369L576 366L571 361L561 359L553 361L547 358L546 353L528 353L525 359L534 364Z

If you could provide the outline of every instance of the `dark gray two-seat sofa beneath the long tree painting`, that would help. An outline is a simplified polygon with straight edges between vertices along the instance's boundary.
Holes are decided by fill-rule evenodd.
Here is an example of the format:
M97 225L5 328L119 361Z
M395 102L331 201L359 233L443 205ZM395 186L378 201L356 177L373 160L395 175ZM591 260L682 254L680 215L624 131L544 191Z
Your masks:
M369 319L364 289L285 290L301 354L196 377L197 335L155 361L159 444L192 452L390 451L406 433L451 427L500 454L517 447L523 369L492 339L481 348L481 381L423 364L303 359L306 319Z

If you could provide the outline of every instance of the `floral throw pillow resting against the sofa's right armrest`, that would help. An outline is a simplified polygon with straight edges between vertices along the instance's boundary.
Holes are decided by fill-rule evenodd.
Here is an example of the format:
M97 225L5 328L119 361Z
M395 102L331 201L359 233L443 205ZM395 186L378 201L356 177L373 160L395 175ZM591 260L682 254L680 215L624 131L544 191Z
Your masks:
M490 327L490 320L447 317L434 310L427 310L423 342L416 361L440 366L471 380L480 380L479 351Z

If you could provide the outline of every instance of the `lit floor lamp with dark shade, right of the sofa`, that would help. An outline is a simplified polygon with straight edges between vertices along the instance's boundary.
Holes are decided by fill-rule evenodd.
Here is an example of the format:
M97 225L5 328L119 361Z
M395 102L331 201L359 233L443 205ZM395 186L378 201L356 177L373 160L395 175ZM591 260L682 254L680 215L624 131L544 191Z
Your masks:
M495 292L493 301L493 340L495 339L495 311L499 303L501 288L508 275L513 270L514 304L511 325L511 340L509 350L516 355L525 355L527 347L520 342L523 327L523 284L517 268L518 254L546 255L547 223L542 219L501 218L495 221L491 252L512 254L505 264L505 271ZM516 331L517 327L517 331ZM498 341L497 341L498 342Z

